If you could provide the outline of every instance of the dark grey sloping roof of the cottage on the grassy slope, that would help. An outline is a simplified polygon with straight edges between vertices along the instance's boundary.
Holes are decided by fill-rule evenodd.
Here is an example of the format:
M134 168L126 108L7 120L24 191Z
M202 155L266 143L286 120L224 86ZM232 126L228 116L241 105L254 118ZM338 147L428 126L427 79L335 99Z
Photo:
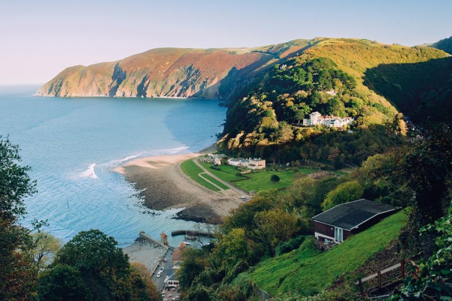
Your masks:
M394 210L394 207L391 205L361 199L337 205L312 219L320 223L352 230L367 220L392 210Z

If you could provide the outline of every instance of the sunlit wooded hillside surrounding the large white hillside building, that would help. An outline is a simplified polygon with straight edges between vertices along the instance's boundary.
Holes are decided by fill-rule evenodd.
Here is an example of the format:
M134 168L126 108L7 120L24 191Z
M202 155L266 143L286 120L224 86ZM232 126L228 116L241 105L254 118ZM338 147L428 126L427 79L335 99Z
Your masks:
M398 113L411 113L413 94L452 86L448 59L445 52L430 47L314 39L297 56L269 68L230 104L219 146L242 157L360 164L391 146L387 124L392 123L395 132L406 131ZM432 72L435 65L440 72ZM400 68L404 76L397 78L395 70ZM410 81L411 73L415 79ZM422 80L422 75L428 79ZM382 82L392 86L382 87ZM392 92L395 87L398 94ZM314 111L355 118L353 133L299 126ZM325 135L328 139L322 138ZM366 137L372 139L365 141Z

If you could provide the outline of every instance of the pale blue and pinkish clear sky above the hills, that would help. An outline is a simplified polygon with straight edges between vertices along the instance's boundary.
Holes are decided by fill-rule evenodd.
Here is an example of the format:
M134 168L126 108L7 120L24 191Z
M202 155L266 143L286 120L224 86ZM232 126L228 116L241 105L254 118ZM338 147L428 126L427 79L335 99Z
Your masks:
M452 35L452 1L0 0L0 85L158 47L255 47L314 37L406 46Z

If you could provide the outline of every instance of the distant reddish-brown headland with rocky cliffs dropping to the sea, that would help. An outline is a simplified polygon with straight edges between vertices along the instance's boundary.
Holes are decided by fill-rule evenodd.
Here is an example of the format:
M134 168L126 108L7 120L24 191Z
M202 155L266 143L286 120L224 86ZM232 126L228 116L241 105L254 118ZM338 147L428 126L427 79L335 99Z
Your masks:
M228 99L260 70L304 43L255 49L152 49L116 62L66 68L36 95Z

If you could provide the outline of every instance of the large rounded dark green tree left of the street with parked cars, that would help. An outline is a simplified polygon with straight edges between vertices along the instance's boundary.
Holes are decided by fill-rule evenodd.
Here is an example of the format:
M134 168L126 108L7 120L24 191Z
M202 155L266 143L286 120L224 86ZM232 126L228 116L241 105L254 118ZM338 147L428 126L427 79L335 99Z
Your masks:
M54 264L80 271L96 299L118 299L130 294L130 265L118 242L99 230L81 231L57 253Z

